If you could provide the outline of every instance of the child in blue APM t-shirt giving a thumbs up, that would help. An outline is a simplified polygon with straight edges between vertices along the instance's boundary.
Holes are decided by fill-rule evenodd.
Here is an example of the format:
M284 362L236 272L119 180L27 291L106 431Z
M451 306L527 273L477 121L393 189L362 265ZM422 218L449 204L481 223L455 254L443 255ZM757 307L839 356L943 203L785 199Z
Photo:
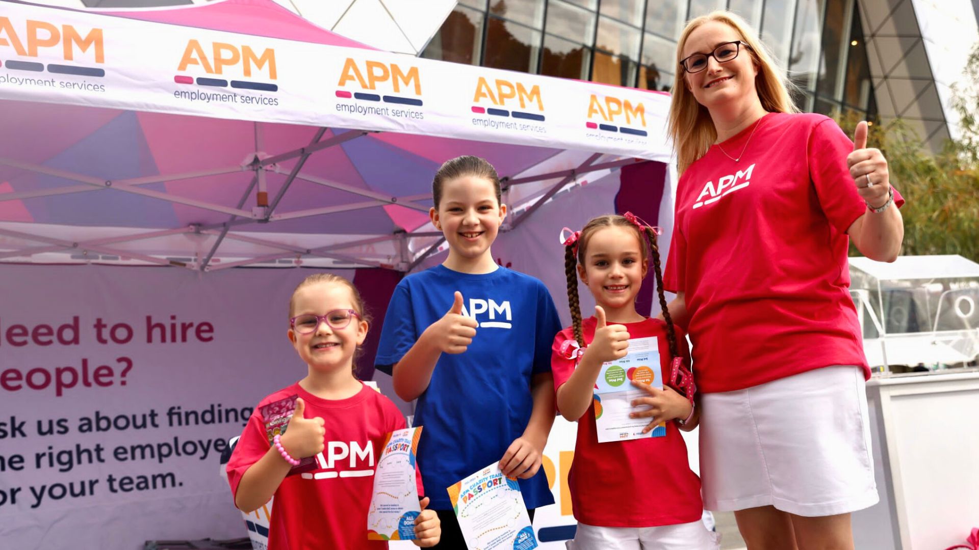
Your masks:
M448 256L398 283L375 363L394 376L398 396L418 399L418 465L442 519L437 548L464 548L445 488L489 464L518 478L532 520L554 502L540 460L554 422L550 345L561 327L543 283L493 261L506 205L492 165L448 160L432 195Z

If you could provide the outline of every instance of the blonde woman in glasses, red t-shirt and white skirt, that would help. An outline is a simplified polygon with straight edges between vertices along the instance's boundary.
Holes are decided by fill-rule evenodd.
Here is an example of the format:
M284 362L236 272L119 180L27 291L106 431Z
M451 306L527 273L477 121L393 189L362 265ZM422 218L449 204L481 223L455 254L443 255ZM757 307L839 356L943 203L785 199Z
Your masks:
M855 144L798 113L737 16L688 23L676 60L665 286L693 344L705 506L751 550L853 548L850 513L878 498L847 250L893 261L904 201L866 123Z

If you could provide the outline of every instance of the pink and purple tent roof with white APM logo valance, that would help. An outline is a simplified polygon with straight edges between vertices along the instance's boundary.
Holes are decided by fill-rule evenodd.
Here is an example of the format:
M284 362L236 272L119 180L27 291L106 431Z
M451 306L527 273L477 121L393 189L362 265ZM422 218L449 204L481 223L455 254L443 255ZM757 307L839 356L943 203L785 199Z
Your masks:
M369 50L268 0L5 2L0 99L0 261L407 271L443 160L495 165L506 230L671 157L665 94Z

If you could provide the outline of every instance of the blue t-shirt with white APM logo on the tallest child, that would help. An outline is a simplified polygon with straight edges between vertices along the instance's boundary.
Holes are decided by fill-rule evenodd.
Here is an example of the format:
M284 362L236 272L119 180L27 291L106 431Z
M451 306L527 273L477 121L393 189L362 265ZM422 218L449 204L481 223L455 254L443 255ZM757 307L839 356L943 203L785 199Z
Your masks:
M397 284L375 359L381 372L391 374L445 315L455 291L463 314L480 326L464 353L442 354L415 406L414 425L424 427L418 467L434 510L451 510L445 488L498 462L523 435L534 405L531 379L550 372L550 347L561 330L554 301L534 277L505 267L473 275L437 265ZM528 508L554 503L543 468L520 480L520 490Z

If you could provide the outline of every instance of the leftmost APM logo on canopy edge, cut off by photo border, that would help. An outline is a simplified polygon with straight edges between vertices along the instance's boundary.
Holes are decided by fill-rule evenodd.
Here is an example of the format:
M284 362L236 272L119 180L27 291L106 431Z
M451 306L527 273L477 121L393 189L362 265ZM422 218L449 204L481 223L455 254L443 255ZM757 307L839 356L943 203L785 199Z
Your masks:
M77 28L70 24L61 26L54 23L43 21L26 20L15 26L10 18L0 17L0 47L6 46L13 48L14 54L22 58L37 58L43 55L51 55L51 52L42 52L43 49L61 49L61 58L67 62L75 61L75 54L81 59L91 60L96 64L106 62L106 51L103 41L103 31L101 28L91 28L88 31L79 32ZM19 31L20 30L20 31ZM89 52L91 50L91 52ZM6 50L0 50L0 53ZM2 56L7 58L6 55ZM30 72L42 72L45 65L33 61L2 59L0 64L11 70L26 70ZM47 71L55 74L75 74L79 76L105 76L105 69L97 67L82 67L78 65L64 65L51 63L47 65Z

